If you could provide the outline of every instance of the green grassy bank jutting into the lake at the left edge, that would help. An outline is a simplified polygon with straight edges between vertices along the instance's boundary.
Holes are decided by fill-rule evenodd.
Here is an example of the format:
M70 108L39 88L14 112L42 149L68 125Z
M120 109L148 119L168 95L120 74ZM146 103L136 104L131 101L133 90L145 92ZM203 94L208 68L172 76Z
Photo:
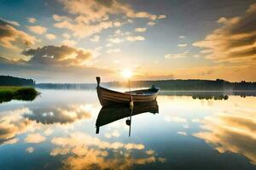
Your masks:
M32 101L38 94L38 91L33 87L0 86L0 103L12 99Z

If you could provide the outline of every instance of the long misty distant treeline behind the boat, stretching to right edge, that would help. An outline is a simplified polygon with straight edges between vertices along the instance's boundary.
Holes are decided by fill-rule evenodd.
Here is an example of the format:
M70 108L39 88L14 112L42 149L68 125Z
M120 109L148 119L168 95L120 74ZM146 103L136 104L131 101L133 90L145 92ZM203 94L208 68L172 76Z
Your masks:
M103 82L107 88L127 88L127 82ZM150 88L154 84L161 90L198 90L198 91L224 91L224 90L256 90L256 82L227 82L221 79L211 80L160 80L160 81L131 81L131 88ZM96 83L41 83L37 88L61 89L88 89L96 88Z

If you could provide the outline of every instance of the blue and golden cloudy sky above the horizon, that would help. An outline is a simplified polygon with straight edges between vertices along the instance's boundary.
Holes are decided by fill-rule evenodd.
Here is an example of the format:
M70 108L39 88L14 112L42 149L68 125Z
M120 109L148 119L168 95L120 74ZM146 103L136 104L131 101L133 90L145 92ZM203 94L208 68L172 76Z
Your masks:
M0 0L0 75L256 81L255 0Z

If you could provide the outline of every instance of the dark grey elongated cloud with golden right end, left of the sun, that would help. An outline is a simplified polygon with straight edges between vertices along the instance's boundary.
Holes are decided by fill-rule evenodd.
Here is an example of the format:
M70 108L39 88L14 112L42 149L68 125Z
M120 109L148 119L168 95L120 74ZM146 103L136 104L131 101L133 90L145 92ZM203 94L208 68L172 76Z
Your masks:
M85 65L92 58L90 51L65 45L31 48L23 51L22 54L32 56L30 63L44 65Z

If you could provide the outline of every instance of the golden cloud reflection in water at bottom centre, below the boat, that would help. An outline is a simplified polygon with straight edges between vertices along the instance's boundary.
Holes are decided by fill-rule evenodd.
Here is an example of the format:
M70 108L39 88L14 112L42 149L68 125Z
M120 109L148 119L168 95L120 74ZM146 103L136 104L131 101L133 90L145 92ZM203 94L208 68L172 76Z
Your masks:
M135 164L166 161L163 157L157 157L154 150L145 150L144 144L110 143L82 132L57 137L51 142L57 145L50 152L51 156L72 153L64 161L64 169L127 169ZM140 152L141 157L132 156L134 152Z

